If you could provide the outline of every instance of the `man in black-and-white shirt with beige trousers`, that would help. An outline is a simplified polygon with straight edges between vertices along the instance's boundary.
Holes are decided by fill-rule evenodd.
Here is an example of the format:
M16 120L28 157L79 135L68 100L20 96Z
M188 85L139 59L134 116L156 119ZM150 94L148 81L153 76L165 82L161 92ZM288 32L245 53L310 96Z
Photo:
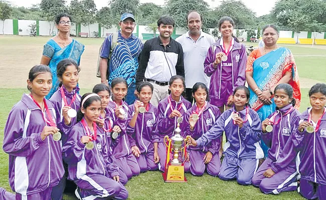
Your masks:
M154 86L150 103L155 106L169 95L169 81L172 76L185 77L182 46L171 38L175 20L164 15L159 17L157 26L159 36L145 42L136 75L137 85L148 81Z

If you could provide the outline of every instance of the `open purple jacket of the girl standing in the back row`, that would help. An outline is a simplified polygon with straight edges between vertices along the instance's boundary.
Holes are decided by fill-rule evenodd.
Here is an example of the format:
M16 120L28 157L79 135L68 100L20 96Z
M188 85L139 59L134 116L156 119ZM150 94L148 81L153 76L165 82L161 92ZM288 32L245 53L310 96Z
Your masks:
M213 62L215 60L215 55L218 52L222 51L222 46L220 44L221 39L217 40L213 45L208 49L207 56L204 62L204 71L211 77L210 80L210 98L212 100L217 100L222 98L220 94L223 93L223 90L229 90L230 94L233 93L234 89L237 86L244 85L245 83L245 72L246 72L246 62L247 62L247 53L246 47L244 44L236 42L234 40L233 48L230 52L232 60L232 85L226 85L221 81L222 79L222 64L219 63L217 68L213 67Z

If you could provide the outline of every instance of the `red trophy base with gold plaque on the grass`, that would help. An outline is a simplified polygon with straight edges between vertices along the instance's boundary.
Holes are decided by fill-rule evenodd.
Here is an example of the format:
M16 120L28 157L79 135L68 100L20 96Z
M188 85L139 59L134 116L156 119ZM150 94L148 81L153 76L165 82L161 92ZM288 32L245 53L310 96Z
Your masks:
M170 164L162 173L165 182L188 182L185 176L185 167L182 164Z

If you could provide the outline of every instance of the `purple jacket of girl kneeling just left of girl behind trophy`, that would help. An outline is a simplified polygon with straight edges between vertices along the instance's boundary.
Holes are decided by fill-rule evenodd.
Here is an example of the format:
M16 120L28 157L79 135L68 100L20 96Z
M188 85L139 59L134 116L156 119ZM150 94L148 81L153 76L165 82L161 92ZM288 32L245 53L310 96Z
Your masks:
M134 105L129 105L128 121L131 120L134 111ZM138 114L135 127L131 127L129 123L127 125L126 131L131 136L129 137L130 145L137 145L141 153L147 153L148 150L153 150L151 131L156 119L156 113L157 107L149 103L148 111Z

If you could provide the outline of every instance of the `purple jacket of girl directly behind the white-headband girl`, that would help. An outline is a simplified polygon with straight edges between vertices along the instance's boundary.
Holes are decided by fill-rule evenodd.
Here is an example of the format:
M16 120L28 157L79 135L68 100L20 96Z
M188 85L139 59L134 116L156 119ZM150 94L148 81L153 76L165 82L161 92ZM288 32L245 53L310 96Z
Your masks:
M63 87L63 91L66 95L68 104L70 104L72 97L75 95L75 93L77 93L79 91L79 87L76 87L75 89L73 89L72 92L68 92L67 89L65 87ZM76 111L78 111L80 108L80 98L81 98L80 95L77 93L75 101L73 103L71 103L71 105L70 105ZM49 100L53 103L54 108L56 110L57 119L60 121L58 123L58 128L61 130L62 124L64 124L64 119L62 116L62 108L65 106L65 102L63 101L63 98L61 96L61 87L59 87L58 90L53 93L53 95L51 96L51 98ZM76 117L73 117L73 118L71 118L71 123L69 125L69 129L75 124L76 124ZM68 132L62 132L62 133L63 134L61 137L61 141L64 144L67 140Z

